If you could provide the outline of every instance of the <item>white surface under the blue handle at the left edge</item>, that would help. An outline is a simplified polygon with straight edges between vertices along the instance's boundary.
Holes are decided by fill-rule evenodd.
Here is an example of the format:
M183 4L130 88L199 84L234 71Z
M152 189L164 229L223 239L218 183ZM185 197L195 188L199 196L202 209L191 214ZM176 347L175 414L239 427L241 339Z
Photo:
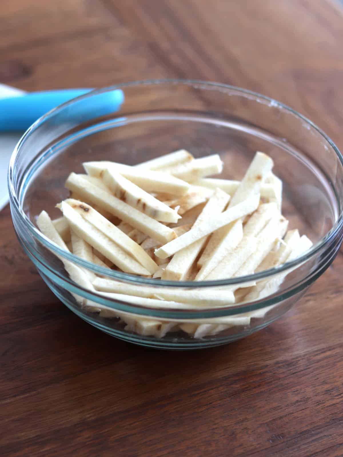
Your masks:
M0 98L23 94L24 91L0 84ZM0 133L0 210L8 203L7 170L10 157L22 133Z

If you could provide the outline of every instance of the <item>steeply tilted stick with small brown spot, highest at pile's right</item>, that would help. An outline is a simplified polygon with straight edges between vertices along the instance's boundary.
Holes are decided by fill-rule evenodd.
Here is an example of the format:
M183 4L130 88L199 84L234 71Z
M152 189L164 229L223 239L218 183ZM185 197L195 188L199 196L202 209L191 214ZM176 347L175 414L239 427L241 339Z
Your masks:
M229 207L241 203L255 194L259 194L261 185L273 168L273 160L263 152L257 152L252 160L241 184L238 186Z

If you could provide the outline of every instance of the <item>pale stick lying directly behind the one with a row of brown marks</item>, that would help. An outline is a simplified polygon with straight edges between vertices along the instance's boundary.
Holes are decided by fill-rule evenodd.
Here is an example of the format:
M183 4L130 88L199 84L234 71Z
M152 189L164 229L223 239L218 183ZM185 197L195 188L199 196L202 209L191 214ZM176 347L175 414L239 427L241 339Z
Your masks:
M140 170L116 162L85 162L83 164L88 175L101 177L103 170L112 169L146 192L166 192L171 195L185 195L189 184L168 173L161 171Z

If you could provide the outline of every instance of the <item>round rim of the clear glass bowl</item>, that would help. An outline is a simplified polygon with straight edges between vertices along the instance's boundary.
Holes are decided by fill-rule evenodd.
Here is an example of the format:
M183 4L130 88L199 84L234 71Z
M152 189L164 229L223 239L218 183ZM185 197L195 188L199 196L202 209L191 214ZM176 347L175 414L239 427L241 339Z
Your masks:
M209 82L209 81L202 81L202 80L183 80L183 79L156 79L156 80L141 80L141 81L132 81L132 82L127 82L127 83L121 83L121 84L116 84L112 86L107 86L103 87L101 89L95 89L87 92L84 95L75 97L74 99L67 101L59 106L56 106L46 114L44 114L42 117L38 118L36 122L32 124L31 127L27 129L27 131L22 135L18 143L16 144L16 147L11 155L10 159L10 164L9 164L9 169L8 169L8 175L7 175L7 182L8 182L8 189L9 189L9 194L10 194L10 202L11 205L16 210L16 213L19 215L19 218L21 221L25 224L25 227L29 230L29 232L34 236L34 238L38 239L45 247L47 247L49 250L51 250L54 254L59 255L64 257L67 260L70 260L74 263L76 263L79 266L85 267L89 269L90 271L95 272L96 274L106 276L109 279L115 279L115 280L120 280L121 282L128 282L128 283L135 283L135 284L141 284L141 285L150 285L150 286L159 286L159 287L184 287L184 288L202 288L202 287L215 287L215 286L233 286L237 284L244 284L246 282L251 282L251 281L257 281L261 279L268 279L271 278L279 273L282 273L284 271L287 271L289 269L293 269L297 266L300 266L301 264L307 262L314 256L316 256L320 250L325 245L330 244L330 242L335 239L340 232L342 231L343 228L343 209L340 208L339 202L338 203L338 217L335 223L333 223L332 228L325 234L316 244L314 244L309 250L305 252L305 254L301 255L300 257L296 258L295 260L291 260L289 262L285 262L284 264L270 268L268 270L261 271L259 273L253 273L251 275L245 275L245 276L238 276L236 278L226 278L226 279L220 279L220 280L215 280L215 281L166 281L166 280L161 280L158 278L152 279L152 278L145 278L143 276L138 276L130 273L124 273L124 272L119 272L119 271L108 271L108 268L104 268L101 266L97 266L91 262L88 262L87 260L83 260L80 257L70 253L66 252L65 250L59 248L55 243L50 241L45 235L43 235L39 229L30 221L30 219L27 217L25 212L23 211L23 208L21 207L19 203L19 198L16 195L15 191L15 183L13 181L13 176L14 176L14 167L16 164L16 157L27 140L29 136L32 135L33 132L35 132L44 122L47 122L51 117L54 117L55 114L61 112L64 110L64 108L72 106L75 104L75 102L78 102L80 100L85 100L87 98L90 98L91 96L102 94L107 91L112 91L112 90L120 90L125 87L132 87L132 86L155 86L155 85L188 85L188 86L195 86L195 85L201 85L202 89L209 89L209 90L220 90L220 89L225 89L225 90L230 90L235 92L236 94L239 94L241 96L249 96L249 98L253 98L255 101L259 102L262 101L264 103L268 103L269 106L273 107L280 107L283 110L289 112L293 116L299 118L302 122L305 122L308 124L311 128L314 128L326 141L327 143L330 144L332 149L334 150L336 156L338 157L341 166L343 167L343 155L339 151L338 147L336 144L331 140L330 137L327 136L326 133L322 131L321 128L319 128L316 124L311 122L310 119L307 117L303 116L299 112L295 111L291 107L284 105L283 103L276 101L268 96L264 96L262 94L259 94L257 92L254 92L252 90L236 87L233 85L227 85L223 83L217 83L217 82ZM27 170L24 171L24 174L27 173ZM336 194L336 193L335 193ZM12 215L13 218L13 215Z

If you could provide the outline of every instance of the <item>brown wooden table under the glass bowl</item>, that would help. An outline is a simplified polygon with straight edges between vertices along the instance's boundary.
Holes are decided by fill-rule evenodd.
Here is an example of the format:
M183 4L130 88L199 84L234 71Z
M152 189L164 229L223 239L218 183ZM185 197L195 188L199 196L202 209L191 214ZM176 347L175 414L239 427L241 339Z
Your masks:
M262 92L343 149L343 13L329 0L4 0L0 82L148 78ZM0 213L1 456L343 455L343 256L267 329L166 352L64 307Z

